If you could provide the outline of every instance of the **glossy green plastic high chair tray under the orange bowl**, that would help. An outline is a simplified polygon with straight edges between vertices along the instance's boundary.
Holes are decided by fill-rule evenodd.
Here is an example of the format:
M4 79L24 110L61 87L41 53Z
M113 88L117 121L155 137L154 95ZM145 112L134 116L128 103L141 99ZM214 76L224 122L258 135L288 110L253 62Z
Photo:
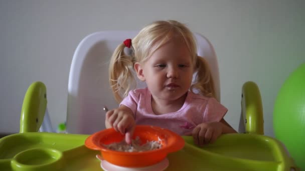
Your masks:
M89 135L16 133L0 139L0 170L102 170ZM202 148L184 136L185 147L168 155L166 170L290 170L295 168L279 141L258 134L225 134Z

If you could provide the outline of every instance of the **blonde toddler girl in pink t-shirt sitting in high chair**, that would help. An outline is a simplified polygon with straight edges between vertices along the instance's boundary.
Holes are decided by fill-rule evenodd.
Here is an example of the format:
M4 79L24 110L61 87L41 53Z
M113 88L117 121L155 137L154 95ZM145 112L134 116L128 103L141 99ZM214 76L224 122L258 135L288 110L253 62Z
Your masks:
M227 108L213 97L208 63L196 47L192 32L175 20L155 21L119 44L110 60L109 81L120 105L106 113L106 127L125 134L127 143L136 124L193 135L198 145L235 133L223 118ZM146 88L130 90L135 74Z

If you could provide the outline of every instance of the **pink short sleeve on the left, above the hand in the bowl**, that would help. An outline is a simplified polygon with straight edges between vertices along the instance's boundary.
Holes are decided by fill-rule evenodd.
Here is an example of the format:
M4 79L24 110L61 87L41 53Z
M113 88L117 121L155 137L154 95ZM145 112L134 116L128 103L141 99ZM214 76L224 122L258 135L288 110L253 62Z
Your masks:
M125 105L131 109L133 116L136 113L137 104L139 102L140 93L136 90L130 90L128 95L121 101L120 105Z

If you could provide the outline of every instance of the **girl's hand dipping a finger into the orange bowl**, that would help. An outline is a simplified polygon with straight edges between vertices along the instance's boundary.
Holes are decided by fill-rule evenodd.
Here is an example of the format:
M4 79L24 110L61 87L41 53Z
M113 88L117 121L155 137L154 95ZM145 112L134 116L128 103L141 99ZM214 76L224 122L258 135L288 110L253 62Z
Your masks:
M126 142L128 144L131 143L135 121L133 118L133 113L128 107L122 106L107 111L106 122L108 122L109 126L113 127L116 131L125 134Z

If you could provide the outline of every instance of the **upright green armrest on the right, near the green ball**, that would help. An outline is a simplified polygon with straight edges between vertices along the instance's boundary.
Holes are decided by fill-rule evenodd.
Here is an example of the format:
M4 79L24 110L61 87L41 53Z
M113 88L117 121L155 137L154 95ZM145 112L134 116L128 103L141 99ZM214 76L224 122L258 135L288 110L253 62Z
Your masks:
M255 82L247 81L242 86L241 111L245 133L264 134L263 107Z

